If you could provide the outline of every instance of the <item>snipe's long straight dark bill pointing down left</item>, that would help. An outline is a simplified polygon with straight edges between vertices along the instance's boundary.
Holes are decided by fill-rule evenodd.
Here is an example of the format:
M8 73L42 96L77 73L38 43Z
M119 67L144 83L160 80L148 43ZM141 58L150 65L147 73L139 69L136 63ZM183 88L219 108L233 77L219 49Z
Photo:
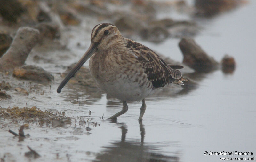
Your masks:
M94 46L94 43L91 43L88 50L85 52L84 56L76 63L76 65L71 69L65 79L60 83L57 92L60 93L61 89L67 84L70 78L74 77L75 73L84 65L84 63L95 53L97 48Z

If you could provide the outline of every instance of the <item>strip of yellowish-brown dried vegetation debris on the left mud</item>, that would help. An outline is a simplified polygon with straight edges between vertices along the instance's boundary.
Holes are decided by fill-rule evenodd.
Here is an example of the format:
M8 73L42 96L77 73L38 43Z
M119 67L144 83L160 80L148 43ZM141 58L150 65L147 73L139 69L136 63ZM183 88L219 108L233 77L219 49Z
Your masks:
M20 119L28 121L38 121L40 124L50 123L52 120L59 120L63 122L64 125L71 124L71 118L66 117L64 113L61 112L49 112L45 110L44 112L36 107L13 107L13 108L0 108L0 118L8 119Z

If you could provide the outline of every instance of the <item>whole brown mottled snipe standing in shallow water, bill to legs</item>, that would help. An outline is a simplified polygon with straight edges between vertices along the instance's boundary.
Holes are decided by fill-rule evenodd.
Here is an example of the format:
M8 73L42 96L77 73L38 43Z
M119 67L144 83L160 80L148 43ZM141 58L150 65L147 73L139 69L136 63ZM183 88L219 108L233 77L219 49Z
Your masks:
M108 119L124 114L128 110L126 101L142 100L142 120L145 98L150 93L167 84L186 81L177 70L183 66L166 64L148 47L124 38L116 26L103 23L93 28L90 47L60 83L58 93L89 58L90 72L98 86L123 101L123 109Z

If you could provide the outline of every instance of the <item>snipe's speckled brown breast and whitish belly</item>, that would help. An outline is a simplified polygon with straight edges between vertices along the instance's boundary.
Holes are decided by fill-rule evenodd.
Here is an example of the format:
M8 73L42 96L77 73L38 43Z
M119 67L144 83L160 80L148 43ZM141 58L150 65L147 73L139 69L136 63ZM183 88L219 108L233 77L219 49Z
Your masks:
M146 73L125 55L95 53L89 68L98 86L120 100L138 101L152 91Z

